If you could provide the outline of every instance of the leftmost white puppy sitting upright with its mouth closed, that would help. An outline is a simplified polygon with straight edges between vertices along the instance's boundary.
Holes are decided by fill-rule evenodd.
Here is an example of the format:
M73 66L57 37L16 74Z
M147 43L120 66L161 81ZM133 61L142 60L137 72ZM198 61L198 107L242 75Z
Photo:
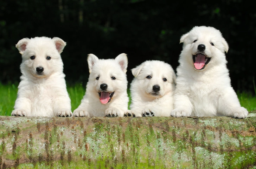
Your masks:
M60 57L65 45L58 37L23 38L16 44L22 55L22 75L12 115L72 115Z

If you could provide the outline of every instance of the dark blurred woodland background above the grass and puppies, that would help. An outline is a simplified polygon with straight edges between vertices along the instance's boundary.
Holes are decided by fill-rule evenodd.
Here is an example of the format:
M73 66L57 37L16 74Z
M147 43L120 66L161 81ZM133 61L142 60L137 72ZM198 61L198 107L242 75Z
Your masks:
M87 54L99 58L128 55L130 69L146 59L178 66L181 35L194 26L219 29L229 44L226 54L232 86L254 93L256 3L242 0L1 0L0 82L19 82L24 37L60 37L69 85L87 83Z

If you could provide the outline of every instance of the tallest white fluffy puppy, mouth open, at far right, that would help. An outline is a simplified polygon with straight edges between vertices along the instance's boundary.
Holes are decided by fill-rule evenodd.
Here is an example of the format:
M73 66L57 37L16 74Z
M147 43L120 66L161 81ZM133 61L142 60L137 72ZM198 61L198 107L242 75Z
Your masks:
M230 84L225 51L228 43L213 27L194 27L181 36L174 110L171 116L229 116L246 118Z

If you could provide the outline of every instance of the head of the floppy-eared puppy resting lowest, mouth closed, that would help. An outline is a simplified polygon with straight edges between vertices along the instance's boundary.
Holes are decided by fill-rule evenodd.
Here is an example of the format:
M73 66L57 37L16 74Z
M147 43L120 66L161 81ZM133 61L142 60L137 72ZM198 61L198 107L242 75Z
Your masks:
M172 66L162 61L145 61L132 69L132 90L146 97L161 98L175 89L176 75Z

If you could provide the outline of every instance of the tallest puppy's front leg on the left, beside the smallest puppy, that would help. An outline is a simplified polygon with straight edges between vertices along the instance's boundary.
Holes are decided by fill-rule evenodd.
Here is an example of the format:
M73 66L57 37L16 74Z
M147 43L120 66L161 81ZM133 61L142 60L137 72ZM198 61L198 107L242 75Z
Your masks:
M192 114L192 103L185 94L174 95L174 110L171 111L173 117L185 117Z

